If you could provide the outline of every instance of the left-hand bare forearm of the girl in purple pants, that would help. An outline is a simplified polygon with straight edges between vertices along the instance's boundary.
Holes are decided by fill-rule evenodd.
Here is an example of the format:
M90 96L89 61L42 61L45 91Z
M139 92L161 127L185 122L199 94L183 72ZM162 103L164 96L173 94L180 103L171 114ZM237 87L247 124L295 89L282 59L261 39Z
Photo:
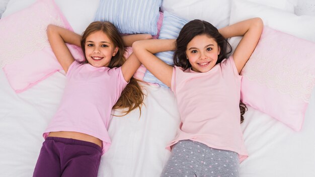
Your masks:
M48 39L59 36L65 43L74 44L76 46L81 47L82 36L72 31L69 31L67 29L64 29L62 27L58 27L55 25L48 25L47 35L48 35Z

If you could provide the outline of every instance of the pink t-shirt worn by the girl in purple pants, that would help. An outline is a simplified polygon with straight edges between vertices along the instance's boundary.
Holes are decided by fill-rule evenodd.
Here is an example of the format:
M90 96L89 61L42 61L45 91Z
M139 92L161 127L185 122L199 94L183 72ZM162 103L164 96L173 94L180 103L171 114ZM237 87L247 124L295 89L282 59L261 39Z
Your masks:
M85 133L103 141L104 154L111 144L107 132L111 110L127 85L121 67L94 67L73 61L66 78L60 106L43 137L56 131Z

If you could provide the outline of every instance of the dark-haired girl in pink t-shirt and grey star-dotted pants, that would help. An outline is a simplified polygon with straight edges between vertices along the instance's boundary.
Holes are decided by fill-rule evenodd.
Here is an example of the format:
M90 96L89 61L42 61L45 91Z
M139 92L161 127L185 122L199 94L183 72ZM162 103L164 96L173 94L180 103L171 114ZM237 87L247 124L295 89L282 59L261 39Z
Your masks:
M133 43L140 62L171 87L181 116L172 153L161 176L238 176L239 162L248 155L240 126L242 68L263 29L260 18L222 29L208 22L187 23L175 39ZM232 56L226 38L243 36ZM175 50L170 66L154 53ZM240 111L241 110L241 111Z

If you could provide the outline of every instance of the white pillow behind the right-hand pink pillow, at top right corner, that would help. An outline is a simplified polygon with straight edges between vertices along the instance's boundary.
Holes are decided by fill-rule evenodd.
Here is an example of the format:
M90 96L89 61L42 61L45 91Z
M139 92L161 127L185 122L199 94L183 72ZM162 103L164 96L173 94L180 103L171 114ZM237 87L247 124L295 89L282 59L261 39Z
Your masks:
M270 28L315 42L314 16L297 16L246 0L232 1L230 24L254 17L260 17Z

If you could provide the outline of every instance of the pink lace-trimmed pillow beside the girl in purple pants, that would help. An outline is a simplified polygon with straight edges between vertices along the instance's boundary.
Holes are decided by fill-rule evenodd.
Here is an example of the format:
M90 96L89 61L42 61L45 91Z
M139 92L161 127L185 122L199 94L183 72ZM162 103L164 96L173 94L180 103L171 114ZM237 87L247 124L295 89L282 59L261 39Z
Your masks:
M0 65L17 93L62 69L47 39L48 24L72 30L53 0L39 0L0 21ZM76 60L84 60L80 47L68 48Z

